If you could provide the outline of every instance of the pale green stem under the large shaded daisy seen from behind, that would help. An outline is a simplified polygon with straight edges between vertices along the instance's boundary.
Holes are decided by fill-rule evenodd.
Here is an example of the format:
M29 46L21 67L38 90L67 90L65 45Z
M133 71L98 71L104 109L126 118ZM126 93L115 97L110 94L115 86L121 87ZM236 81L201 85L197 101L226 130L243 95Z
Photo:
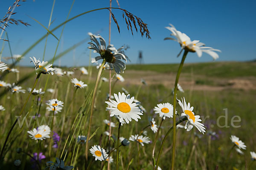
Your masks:
M96 97L96 93L97 93L97 88L99 85L100 76L102 74L103 66L105 65L105 63L106 63L106 60L103 59L102 65L99 68L98 76L97 76L95 87L93 90L93 99L92 99L91 108L90 108L90 120L89 120L88 132L87 132L88 139L90 137L90 128L91 128L91 124L92 124L93 109L94 109L94 102L95 102L95 97ZM85 162L85 164L87 164L87 162L88 162L88 142L89 142L89 140L86 140L86 144L85 144L85 161L86 162ZM85 168L85 169L87 169L87 168Z

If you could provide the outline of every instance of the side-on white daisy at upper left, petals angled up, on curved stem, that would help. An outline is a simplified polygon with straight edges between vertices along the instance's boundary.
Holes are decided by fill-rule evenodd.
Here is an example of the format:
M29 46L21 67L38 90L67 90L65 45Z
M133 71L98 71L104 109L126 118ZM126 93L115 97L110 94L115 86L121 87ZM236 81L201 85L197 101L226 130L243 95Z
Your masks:
M39 59L36 59L35 57L31 58L29 57L35 65L35 72L38 74L39 71L41 71L42 74L52 74L53 72L56 72L54 68L51 68L52 64L48 64L48 62L40 61Z

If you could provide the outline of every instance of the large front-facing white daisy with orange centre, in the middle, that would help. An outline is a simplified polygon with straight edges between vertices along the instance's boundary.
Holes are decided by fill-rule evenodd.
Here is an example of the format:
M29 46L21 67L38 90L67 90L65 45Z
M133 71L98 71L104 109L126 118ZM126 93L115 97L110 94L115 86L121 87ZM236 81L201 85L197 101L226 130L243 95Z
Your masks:
M139 103L133 103L134 97L130 97L130 94L127 96L124 93L114 94L116 101L109 99L110 102L106 102L110 108L106 108L106 110L111 111L110 116L119 116L119 122L125 122L128 124L131 122L131 119L134 119L138 122L140 119L139 115L143 115L141 113L140 108L138 107Z

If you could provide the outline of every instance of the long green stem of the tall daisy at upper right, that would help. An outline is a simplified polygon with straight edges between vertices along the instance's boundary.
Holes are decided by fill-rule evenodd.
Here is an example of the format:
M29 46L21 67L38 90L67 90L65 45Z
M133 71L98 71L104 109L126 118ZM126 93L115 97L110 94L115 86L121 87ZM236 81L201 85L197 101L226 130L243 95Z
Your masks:
M173 96L173 147L172 147L172 170L174 170L174 164L175 164L175 145L176 145L176 118L175 118L175 112L176 112L176 94L177 94L177 84L180 78L180 73L181 73L181 69L183 67L184 61L186 59L186 55L188 54L189 51L184 51L184 54L182 56L181 62L180 62L180 66L176 75L176 79L175 79L175 88L174 88L174 96ZM168 133L166 133L167 136ZM166 137L165 136L165 137ZM161 146L162 147L162 146ZM156 168L157 169L157 168Z

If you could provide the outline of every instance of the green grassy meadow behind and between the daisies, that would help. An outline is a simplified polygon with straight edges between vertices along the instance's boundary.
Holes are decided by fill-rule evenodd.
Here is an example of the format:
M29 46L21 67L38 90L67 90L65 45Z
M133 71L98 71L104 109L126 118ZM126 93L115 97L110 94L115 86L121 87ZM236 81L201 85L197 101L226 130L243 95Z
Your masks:
M180 77L180 85L184 89L184 93L178 92L177 98L185 97L187 102L190 102L194 107L194 112L200 115L203 119L202 123L207 127L206 133L203 135L195 127L187 132L185 129L177 130L177 144L176 144L176 170L214 170L218 165L219 169L226 170L253 170L256 168L256 162L250 158L250 151L256 151L255 142L255 109L256 105L256 62L209 62L209 63L193 63L185 64ZM120 136L129 139L131 135L139 134L140 131L148 126L148 117L154 117L157 126L160 124L160 117L154 114L153 108L158 103L173 101L172 88L174 87L175 74L177 71L177 64L164 65L127 65L125 73L122 76L125 78L124 82L117 81L113 87L112 92L122 92L125 88L131 96L137 96L141 105L145 108L145 112L139 122L134 120L129 124L121 127ZM34 68L18 68L20 70L19 79L26 76L28 72L34 71ZM68 68L63 68L68 70ZM23 116L34 116L38 113L38 107L42 103L40 109L40 117L31 119L31 125L26 126L26 123L14 128L10 136L10 140L5 150L5 158L3 166L0 169L15 169L13 162L20 159L22 164L20 169L31 169L33 162L30 161L30 156L33 153L42 152L46 158L40 162L41 169L46 167L47 161L55 161L55 157L61 158L61 151L67 140L67 136L71 134L71 141L68 140L67 147L64 153L65 165L73 165L76 170L83 170L85 160L85 144L77 143L78 135L87 134L89 113L89 104L83 105L87 96L90 96L90 91L94 88L97 70L92 69L92 77L88 75L81 75L81 71L71 68L75 74L68 77L57 77L56 75L41 75L38 88L44 88L49 77L47 87L55 89L55 93L46 92L44 96L32 96L25 108ZM113 72L112 72L113 74ZM109 72L104 71L104 77L109 77ZM32 87L36 75L29 80L23 82L21 86L23 89ZM77 78L88 84L85 89L77 89L73 87L71 78ZM15 82L17 75L9 73L4 78L5 82ZM145 79L148 85L143 85L140 79ZM115 78L114 81L115 82ZM140 88L141 87L141 88ZM138 90L140 89L140 90ZM0 92L4 92L4 88L0 88ZM76 91L76 94L75 94ZM109 91L108 82L100 82L99 90L96 96L95 111L92 119L92 133L94 136L90 139L89 147L100 144L107 149L108 136L104 134L108 130L108 125L103 122L103 119L109 119L108 111L105 111L107 104L107 94ZM0 146L3 146L4 139L11 128L12 123L17 116L26 100L26 94L15 93L7 91L4 96L1 96L1 103L5 107L5 111L0 112ZM75 97L73 97L76 95ZM38 122L46 120L46 124L51 127L52 117L49 115L52 112L46 111L46 102L49 99L59 99L64 102L64 108L60 113L55 115L53 124L53 131L63 136L58 143L58 148L51 148L51 155L49 155L50 139L36 142L30 139L28 130L38 127ZM74 98L74 100L73 100ZM83 106L83 107L81 107ZM219 119L219 125L224 126L225 123L229 127L219 127L217 120L219 116L225 116L227 108L227 119L224 117ZM81 109L84 109L81 112ZM181 108L177 107L180 114ZM67 121L63 127L59 122L67 116ZM78 118L76 119L76 116ZM233 116L239 116L241 122L234 122ZM28 120L29 120L28 119ZM237 118L236 118L237 120ZM111 147L114 148L114 142L117 136L118 121L112 117L112 121L116 124L113 130L113 140L111 140ZM45 123L42 123L45 124ZM74 128L72 129L72 125ZM184 125L184 122L182 123ZM163 136L172 127L172 119L166 118L163 121L160 135L157 138L157 147L155 152L155 159L157 158L160 149L160 143ZM155 138L155 133L148 127L147 136L151 142L142 147L137 142L130 141L129 146L121 146L119 169L131 170L150 170L152 168L152 149ZM211 132L211 133L210 133ZM215 132L215 134L212 134ZM230 136L238 136L247 146L243 150L244 155L236 152L233 148L233 143ZM21 148L22 152L17 153L17 148ZM232 149L233 148L233 149ZM64 154L65 155L65 154ZM115 162L116 153L111 155ZM163 170L171 169L172 156L172 133L168 136L167 142L164 144L163 153L160 157L160 167ZM61 159L63 159L62 156ZM89 161L92 161L91 169L106 169L107 163L100 161L93 161L93 156L89 153ZM111 169L114 169L115 163L111 163ZM104 166L103 166L104 165ZM37 165L35 165L37 167Z

